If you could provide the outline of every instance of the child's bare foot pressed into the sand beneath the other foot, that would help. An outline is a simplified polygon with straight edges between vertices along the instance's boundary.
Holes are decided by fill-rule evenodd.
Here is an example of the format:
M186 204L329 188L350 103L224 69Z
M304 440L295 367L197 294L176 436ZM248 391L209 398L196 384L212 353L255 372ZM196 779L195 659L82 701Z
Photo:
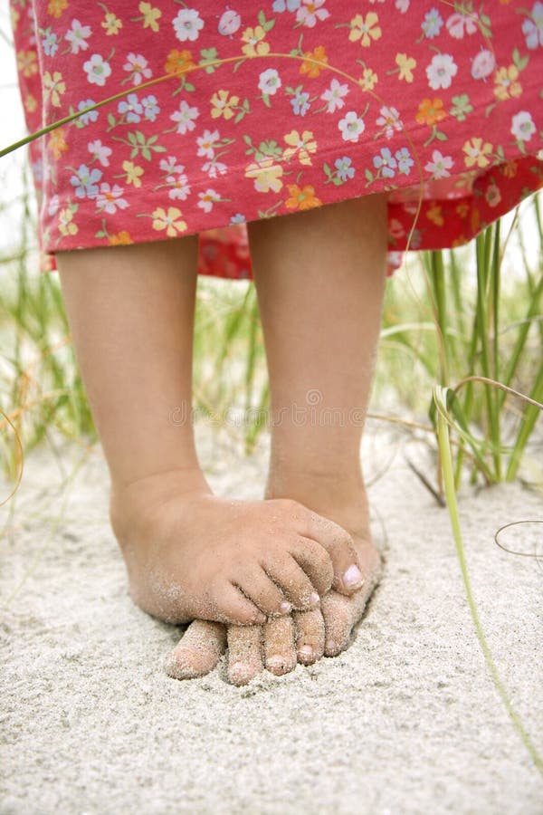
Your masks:
M273 619L264 626L228 628L228 678L233 685L244 685L257 676L264 667L276 675L291 671L300 662L311 665L320 657L335 657L348 646L350 634L362 617L367 600L380 578L381 557L371 540L367 496L363 487L350 490L341 506L329 508L327 497L338 497L338 485L327 485L326 479L315 480L307 475L297 479L297 499L302 494L307 505L351 532L364 583L350 598L335 590L321 599L320 608L294 611L290 618ZM329 489L329 487L331 488ZM294 489L294 487L292 486ZM281 491L282 492L282 491ZM281 494L269 482L267 496ZM192 628L188 628L167 660L167 673L176 678L203 676L212 670L224 653L224 628L200 632L197 647L193 646Z

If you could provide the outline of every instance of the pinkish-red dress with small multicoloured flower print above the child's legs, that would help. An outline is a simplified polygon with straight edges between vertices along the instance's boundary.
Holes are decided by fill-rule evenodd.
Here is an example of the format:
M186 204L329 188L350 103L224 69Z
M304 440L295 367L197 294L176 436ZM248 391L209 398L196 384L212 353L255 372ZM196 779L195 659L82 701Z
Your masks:
M386 192L389 270L541 187L543 2L11 0L40 243L200 234ZM98 108L94 105L107 101ZM90 110L89 110L90 109Z

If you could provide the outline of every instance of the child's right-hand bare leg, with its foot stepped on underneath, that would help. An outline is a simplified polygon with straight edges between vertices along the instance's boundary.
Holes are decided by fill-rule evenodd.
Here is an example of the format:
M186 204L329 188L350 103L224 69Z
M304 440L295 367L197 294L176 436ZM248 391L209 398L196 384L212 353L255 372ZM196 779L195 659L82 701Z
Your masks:
M364 197L258 221L249 225L249 236L273 416L283 409L272 428L266 495L295 498L348 529L365 577L352 599L332 591L322 612L294 615L298 657L307 664L322 656L325 628L326 654L347 645L380 569L369 532L360 439L381 321L386 200ZM274 673L296 662L293 628L286 623L263 631L266 664ZM208 636L210 657L219 636ZM259 638L232 627L228 645L231 680L240 684L262 666Z

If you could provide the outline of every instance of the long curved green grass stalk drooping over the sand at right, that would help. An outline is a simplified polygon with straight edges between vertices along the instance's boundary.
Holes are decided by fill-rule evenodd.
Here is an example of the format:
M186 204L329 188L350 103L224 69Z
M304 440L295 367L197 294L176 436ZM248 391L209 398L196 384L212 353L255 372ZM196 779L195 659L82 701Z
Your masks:
M452 534L454 536L454 542L456 544L458 560L460 561L460 568L462 570L462 580L464 583L464 588L466 590L466 596L468 599L468 605L472 615L473 625L475 627L477 638L479 639L479 644L481 646L481 651L483 653L484 660L486 662L489 673L491 674L492 682L494 683L494 686L501 697L503 705L505 705L505 708L510 716L511 723L513 724L513 727L519 734L520 740L528 750L529 755L536 766L536 769L538 770L538 772L541 773L541 775L543 775L543 758L541 757L541 755L539 755L535 744L532 742L529 736L529 733L522 724L519 714L511 704L507 688L504 686L503 682L500 679L498 669L496 667L496 664L494 663L494 659L491 654L491 649L484 636L484 632L481 627L481 620L479 618L479 613L477 611L475 601L473 599L472 584L470 582L470 576L468 574L468 568L465 559L465 553L462 542L462 531L460 527L460 518L458 514L458 504L456 502L456 491L454 488L454 473L452 470L452 454L449 440L450 420L447 415L447 410L445 408L446 390L447 388L441 388L438 385L436 385L433 388L433 400L438 413L437 438L441 457L443 482L445 486L445 497L449 509L449 516L451 518Z

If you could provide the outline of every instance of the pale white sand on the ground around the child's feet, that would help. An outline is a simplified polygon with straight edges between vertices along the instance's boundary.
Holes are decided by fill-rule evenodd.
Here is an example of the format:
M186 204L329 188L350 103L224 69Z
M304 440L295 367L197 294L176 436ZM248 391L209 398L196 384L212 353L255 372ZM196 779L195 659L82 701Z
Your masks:
M374 447L377 471L391 448ZM218 491L261 494L261 454L233 465L205 448ZM448 514L401 450L371 488L386 577L351 647L244 688L224 666L190 682L164 674L178 630L126 595L100 454L68 489L61 480L51 450L31 456L2 542L3 598L34 567L2 625L2 813L543 812L541 776L481 655ZM462 497L482 625L542 751L543 568L493 542L522 518L543 506L519 486ZM541 538L534 524L517 545L541 554Z

